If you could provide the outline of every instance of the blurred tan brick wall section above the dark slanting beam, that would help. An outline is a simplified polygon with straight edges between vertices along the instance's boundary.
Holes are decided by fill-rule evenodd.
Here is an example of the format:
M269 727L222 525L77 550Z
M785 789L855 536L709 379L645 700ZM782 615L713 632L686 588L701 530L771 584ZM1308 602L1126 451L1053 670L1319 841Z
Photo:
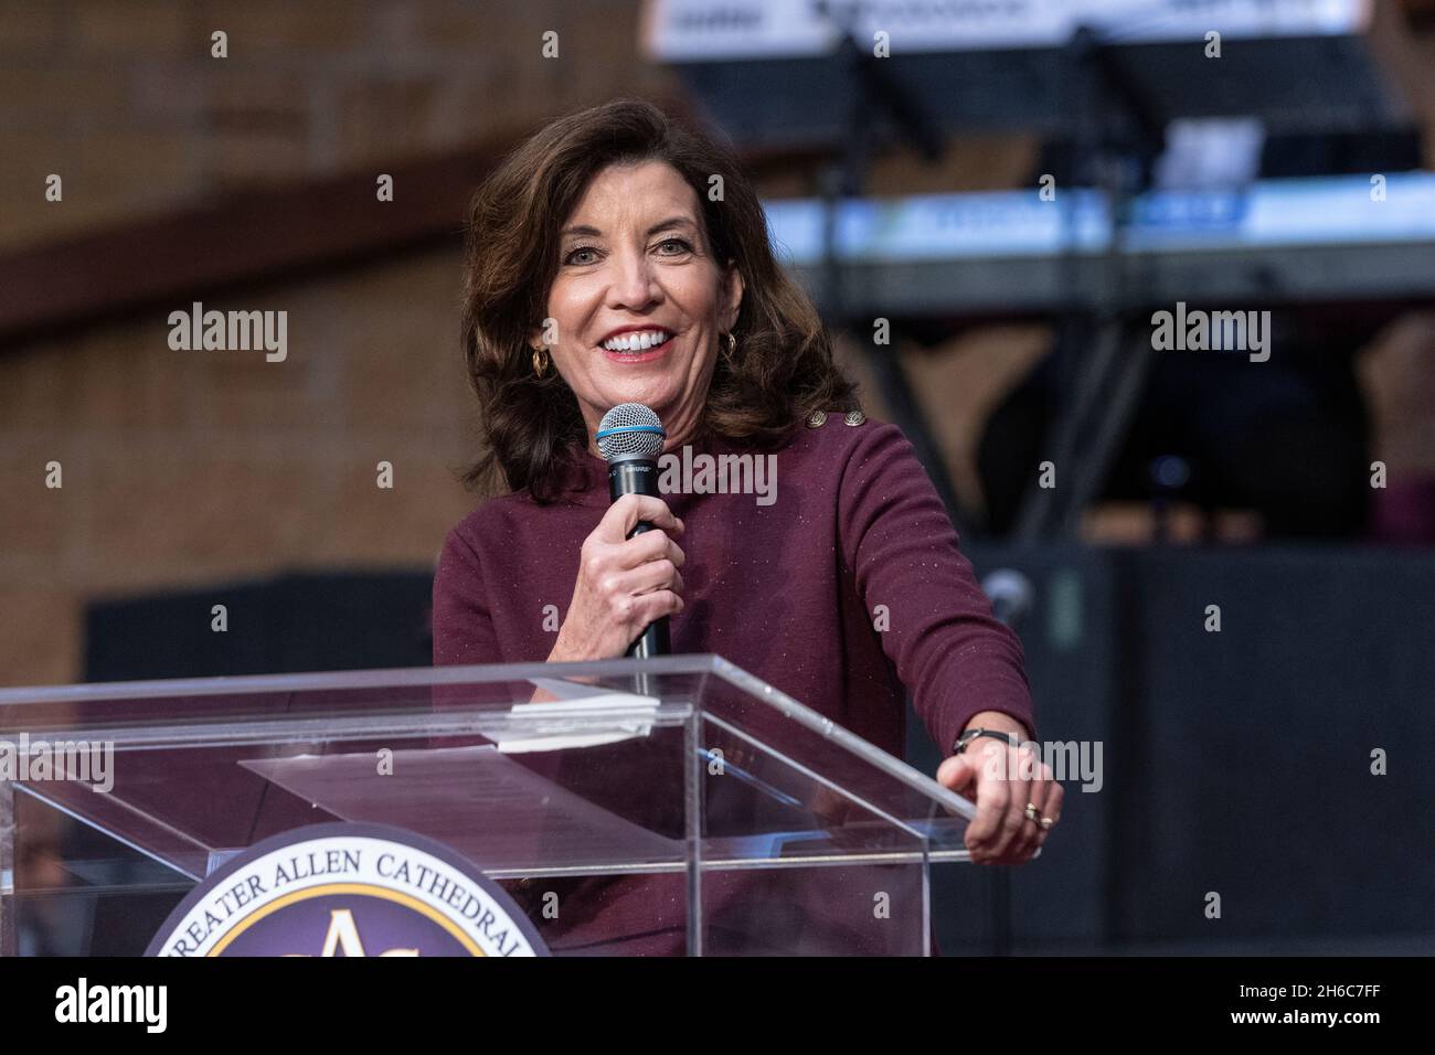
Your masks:
M663 80L636 0L0 0L0 248ZM544 59L555 30L560 57ZM211 57L211 33L228 57ZM43 207L47 174L65 202ZM40 202L39 205L36 202Z

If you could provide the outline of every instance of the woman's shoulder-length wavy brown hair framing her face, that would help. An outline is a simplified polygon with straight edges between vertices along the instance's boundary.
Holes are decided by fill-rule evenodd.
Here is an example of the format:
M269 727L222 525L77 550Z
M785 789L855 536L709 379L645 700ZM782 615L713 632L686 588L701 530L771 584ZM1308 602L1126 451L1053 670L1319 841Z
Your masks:
M465 230L464 357L479 402L484 454L464 472L472 489L528 488L547 502L587 448L578 400L557 370L537 378L530 334L547 314L560 230L593 177L614 164L663 161L692 185L707 247L743 278L733 336L719 355L700 428L752 449L775 449L819 409L855 409L857 386L808 296L772 255L768 218L733 155L639 99L552 121L504 158L474 194ZM722 177L722 201L707 194Z

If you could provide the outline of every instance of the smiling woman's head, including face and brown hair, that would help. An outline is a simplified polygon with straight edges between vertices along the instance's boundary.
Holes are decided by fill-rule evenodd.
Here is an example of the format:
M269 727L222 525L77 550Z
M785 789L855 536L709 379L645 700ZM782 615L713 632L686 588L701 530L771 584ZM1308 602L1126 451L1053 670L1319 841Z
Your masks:
M624 356L631 339L610 339L634 332L649 353ZM485 441L465 479L540 502L621 402L651 406L670 449L700 428L775 449L814 411L857 406L732 155L646 102L560 118L479 188L462 340Z

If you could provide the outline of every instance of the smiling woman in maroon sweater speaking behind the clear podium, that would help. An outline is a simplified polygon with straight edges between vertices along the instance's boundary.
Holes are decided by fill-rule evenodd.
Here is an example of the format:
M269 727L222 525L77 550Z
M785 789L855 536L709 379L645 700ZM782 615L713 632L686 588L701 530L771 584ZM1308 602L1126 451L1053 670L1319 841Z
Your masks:
M507 492L445 540L436 665L618 657L667 617L673 653L718 653L898 756L910 692L950 755L937 779L976 802L973 860L1032 857L1062 788L1019 754L1020 643L911 445L857 408L726 149L637 100L547 125L472 201L462 339L484 441L466 482ZM771 455L771 492L610 502L596 433L620 403L657 412L664 454ZM573 947L680 952L651 926L656 878L600 884Z

